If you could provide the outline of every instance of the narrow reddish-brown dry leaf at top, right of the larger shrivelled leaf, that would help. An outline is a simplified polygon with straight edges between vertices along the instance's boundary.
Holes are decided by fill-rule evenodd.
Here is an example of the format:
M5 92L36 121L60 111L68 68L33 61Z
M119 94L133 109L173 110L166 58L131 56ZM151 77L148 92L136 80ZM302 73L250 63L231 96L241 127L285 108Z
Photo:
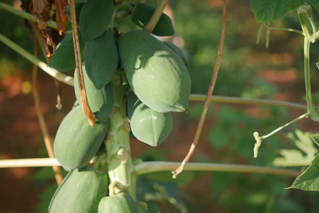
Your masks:
M68 17L66 16L66 6L68 6L67 0L55 0L56 5L56 22L58 26L59 34L62 35L66 28L66 22Z

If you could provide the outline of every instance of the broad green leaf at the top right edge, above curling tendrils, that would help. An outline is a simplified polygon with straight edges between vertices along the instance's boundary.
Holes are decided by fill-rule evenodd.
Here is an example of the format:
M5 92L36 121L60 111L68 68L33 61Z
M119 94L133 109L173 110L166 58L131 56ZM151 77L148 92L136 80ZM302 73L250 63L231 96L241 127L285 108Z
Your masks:
M275 21L305 2L305 0L251 0L250 7L257 22L260 23Z

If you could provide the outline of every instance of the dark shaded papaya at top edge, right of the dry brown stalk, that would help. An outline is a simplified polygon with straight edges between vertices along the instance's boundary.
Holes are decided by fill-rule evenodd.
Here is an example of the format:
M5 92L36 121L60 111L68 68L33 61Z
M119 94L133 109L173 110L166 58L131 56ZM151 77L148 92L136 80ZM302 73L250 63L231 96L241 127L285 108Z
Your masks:
M79 16L79 28L85 41L101 36L111 21L113 0L88 0Z

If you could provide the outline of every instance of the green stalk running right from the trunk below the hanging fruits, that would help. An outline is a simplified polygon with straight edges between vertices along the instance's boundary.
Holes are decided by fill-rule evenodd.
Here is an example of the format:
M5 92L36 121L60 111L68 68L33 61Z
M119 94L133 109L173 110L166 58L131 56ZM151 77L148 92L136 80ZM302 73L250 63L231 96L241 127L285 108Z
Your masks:
M136 175L152 172L172 171L178 167L178 162L142 162L135 166ZM188 163L183 168L184 171L216 171L216 172L243 172L274 174L297 177L301 173L296 170L277 169L263 166L236 165L236 164L215 164L215 163Z

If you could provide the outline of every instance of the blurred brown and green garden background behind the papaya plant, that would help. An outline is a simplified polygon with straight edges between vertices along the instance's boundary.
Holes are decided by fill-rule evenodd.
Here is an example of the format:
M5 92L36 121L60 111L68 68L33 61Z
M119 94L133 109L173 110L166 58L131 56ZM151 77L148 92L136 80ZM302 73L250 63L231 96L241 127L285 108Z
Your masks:
M19 8L20 1L1 1ZM134 1L125 0L124 4ZM250 10L250 2L227 0L227 29L223 58L214 95L265 98L305 104L303 73L303 37L289 32L272 31L269 48L265 34L256 44L259 25ZM155 1L146 3L155 5ZM175 36L163 38L181 47L189 58L192 93L206 94L214 67L222 23L222 1L170 1L165 12L174 22ZM318 14L313 11L315 22ZM22 18L0 10L0 33L29 52L34 36ZM271 26L301 30L297 12L288 13ZM126 18L122 32L138 29ZM314 102L319 102L318 42L311 45L310 66ZM40 54L41 55L41 54ZM44 61L44 57L39 57ZM47 157L40 132L31 90L32 64L0 43L0 159ZM73 75L72 72L68 73ZM51 136L75 101L72 87L62 85L63 108L55 108L57 92L52 77L39 70L38 89L41 109ZM145 161L182 161L195 135L201 102L190 102L187 114L173 113L174 128L159 147L150 147L132 138L133 157ZM318 132L319 125L303 119L278 134L265 139L258 158L253 158L254 131L265 135L305 113L283 107L253 105L210 105L205 126L192 162L214 162L271 166L280 149L297 149L294 141L303 133ZM299 135L298 135L299 132ZM289 137L287 137L287 135ZM304 155L307 153L303 153ZM297 168L300 169L300 168ZM139 178L142 193L146 176ZM168 197L156 200L150 195L150 212L310 212L314 194L285 190L293 178L229 172L183 172L171 179L169 172L150 174L161 181ZM46 212L57 188L51 168L0 169L0 212ZM148 181L149 184L154 183ZM143 197L143 196L142 196ZM146 199L145 197L143 197Z

